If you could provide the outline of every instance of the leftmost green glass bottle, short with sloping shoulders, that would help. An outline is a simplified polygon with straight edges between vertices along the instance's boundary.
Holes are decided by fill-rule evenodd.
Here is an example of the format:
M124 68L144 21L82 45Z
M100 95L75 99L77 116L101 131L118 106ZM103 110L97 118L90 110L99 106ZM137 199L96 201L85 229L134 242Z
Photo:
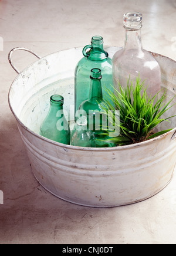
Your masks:
M63 97L54 94L50 97L50 108L40 126L40 135L63 144L70 144L70 127L63 113Z

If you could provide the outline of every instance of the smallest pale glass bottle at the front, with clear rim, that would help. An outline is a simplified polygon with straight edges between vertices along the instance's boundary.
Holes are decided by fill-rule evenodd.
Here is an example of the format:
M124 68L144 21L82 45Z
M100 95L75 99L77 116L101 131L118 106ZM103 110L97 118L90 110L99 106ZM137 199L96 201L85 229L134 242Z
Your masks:
M70 145L80 147L96 147L96 140L91 130L87 130L87 117L81 116L76 120L75 133L71 138Z

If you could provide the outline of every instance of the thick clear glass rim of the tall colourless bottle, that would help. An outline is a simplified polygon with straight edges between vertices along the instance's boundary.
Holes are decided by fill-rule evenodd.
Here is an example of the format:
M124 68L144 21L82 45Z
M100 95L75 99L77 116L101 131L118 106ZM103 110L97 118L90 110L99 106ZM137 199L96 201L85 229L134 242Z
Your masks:
M123 15L123 27L128 30L137 30L143 26L143 15L140 12L126 12Z

